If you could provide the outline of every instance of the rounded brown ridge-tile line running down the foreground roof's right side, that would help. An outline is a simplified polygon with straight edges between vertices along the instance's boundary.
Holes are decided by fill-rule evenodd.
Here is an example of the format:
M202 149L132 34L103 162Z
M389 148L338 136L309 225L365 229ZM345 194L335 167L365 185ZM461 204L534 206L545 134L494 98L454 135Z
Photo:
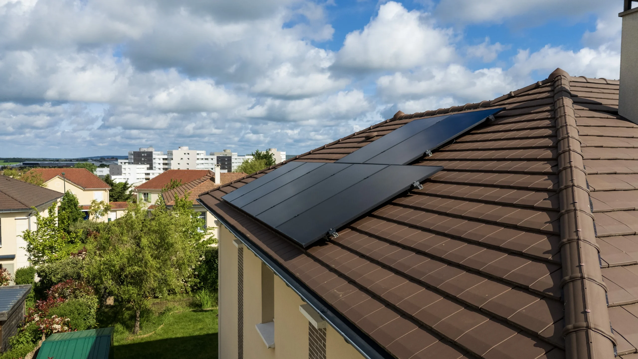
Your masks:
M609 321L607 287L600 270L599 248L590 191L576 126L570 76L556 69L553 75L554 114L560 198L561 289L565 300L567 358L614 358L616 339ZM589 285L588 285L589 284Z

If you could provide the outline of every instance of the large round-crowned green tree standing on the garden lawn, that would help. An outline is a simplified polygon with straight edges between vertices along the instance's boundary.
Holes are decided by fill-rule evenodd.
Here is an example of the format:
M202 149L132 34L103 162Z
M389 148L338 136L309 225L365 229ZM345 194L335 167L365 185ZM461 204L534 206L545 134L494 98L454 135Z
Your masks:
M207 231L198 231L204 223L192 205L188 195L175 199L170 210L158 202L149 216L131 203L123 217L89 237L85 278L135 311L135 334L149 298L189 291L195 282L192 268L211 240L204 240Z

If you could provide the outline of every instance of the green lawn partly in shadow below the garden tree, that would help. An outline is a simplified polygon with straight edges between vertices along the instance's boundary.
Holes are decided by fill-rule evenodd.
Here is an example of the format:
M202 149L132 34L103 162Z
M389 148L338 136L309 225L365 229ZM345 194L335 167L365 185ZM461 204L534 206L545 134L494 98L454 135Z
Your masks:
M102 310L98 320L100 326L115 326L115 359L217 358L217 310L194 305L191 296L152 300L142 313L139 334L155 333L133 340L126 340L133 328L130 310L115 305Z

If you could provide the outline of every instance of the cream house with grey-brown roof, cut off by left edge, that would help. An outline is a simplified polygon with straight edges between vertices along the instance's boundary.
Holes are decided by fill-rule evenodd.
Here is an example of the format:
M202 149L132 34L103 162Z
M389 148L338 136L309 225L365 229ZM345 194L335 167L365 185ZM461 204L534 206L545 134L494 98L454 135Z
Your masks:
M11 273L11 278L15 270L29 266L22 232L36 229L32 207L47 217L49 206L62 196L60 192L0 175L0 266Z

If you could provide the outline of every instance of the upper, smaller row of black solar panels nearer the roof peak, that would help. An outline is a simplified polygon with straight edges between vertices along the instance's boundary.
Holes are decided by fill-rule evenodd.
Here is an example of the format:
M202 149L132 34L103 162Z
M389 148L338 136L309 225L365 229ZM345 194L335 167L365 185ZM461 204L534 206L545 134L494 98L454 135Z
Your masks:
M489 109L433 118L415 119L357 149L337 163L405 165L424 153L484 122L504 108Z

